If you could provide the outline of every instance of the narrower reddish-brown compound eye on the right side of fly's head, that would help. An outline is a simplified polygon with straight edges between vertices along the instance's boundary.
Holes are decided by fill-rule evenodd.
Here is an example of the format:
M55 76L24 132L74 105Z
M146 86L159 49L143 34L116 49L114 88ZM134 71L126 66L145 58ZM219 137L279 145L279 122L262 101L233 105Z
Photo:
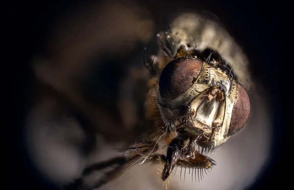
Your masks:
M250 99L245 88L237 82L237 96L233 106L228 136L239 132L247 123L250 115Z

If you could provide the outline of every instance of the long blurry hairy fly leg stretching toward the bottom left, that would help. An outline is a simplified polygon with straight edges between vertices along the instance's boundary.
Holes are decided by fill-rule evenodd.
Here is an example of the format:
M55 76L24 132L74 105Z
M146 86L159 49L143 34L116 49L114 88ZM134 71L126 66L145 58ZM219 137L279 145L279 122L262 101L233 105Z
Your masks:
M66 185L64 190L97 189L102 185L120 177L124 171L133 165L137 163L143 164L145 161L152 159L158 149L159 146L155 141L138 141L125 151L124 156L113 158L105 162L96 163L86 168L82 174L82 177L75 180L74 183ZM100 178L96 179L93 177L95 174L97 174L97 171L107 168L110 168L110 170L104 172Z

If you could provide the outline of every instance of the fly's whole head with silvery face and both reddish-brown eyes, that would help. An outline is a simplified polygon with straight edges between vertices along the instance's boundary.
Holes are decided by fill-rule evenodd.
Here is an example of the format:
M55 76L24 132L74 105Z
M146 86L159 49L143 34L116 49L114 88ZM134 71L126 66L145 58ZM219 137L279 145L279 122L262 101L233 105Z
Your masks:
M184 127L200 147L215 147L244 127L250 114L245 88L219 66L177 58L162 71L157 105L168 131Z

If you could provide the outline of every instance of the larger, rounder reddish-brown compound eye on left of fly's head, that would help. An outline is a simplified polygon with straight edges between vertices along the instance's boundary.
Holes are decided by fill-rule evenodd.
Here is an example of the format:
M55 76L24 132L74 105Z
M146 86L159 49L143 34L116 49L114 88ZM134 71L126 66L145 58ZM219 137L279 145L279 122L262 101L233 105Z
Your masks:
M186 92L198 77L203 62L193 58L172 60L162 71L159 79L159 94L170 101Z

